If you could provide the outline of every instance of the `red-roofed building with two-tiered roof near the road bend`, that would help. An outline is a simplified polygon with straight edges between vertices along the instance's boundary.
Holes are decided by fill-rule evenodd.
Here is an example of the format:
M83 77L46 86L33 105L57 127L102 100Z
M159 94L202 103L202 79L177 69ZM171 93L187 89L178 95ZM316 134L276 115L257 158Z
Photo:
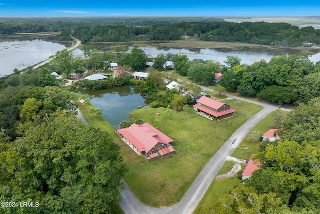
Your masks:
M202 116L205 116L209 119L218 120L231 117L234 112L236 112L236 110L230 108L229 105L206 96L202 96L200 99L198 99L196 104L193 105L193 109Z

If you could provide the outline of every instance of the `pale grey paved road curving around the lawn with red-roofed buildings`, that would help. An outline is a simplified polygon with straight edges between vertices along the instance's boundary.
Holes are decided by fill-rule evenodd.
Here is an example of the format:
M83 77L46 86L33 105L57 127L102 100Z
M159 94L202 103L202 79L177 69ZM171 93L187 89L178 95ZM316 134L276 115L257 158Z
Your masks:
M180 80L178 80L180 81ZM214 90L200 86L201 89L214 92ZM196 208L197 204L201 200L202 196L206 192L207 188L212 183L217 172L221 166L226 161L227 157L231 155L234 149L240 144L247 133L266 115L274 111L277 106L267 103L259 103L252 100L247 100L244 98L236 97L233 95L225 94L227 97L231 97L236 100L253 103L263 107L261 111L253 115L244 124L242 124L231 136L225 141L221 148L212 156L208 163L201 170L199 175L195 178L189 189L185 192L181 200L169 207L165 208L154 208L141 203L129 187L125 184L124 189L121 194L123 198L121 199L119 205L125 213L154 213L154 214L164 214L164 213L177 213L177 214L188 214L192 213ZM288 109L283 109L287 110Z

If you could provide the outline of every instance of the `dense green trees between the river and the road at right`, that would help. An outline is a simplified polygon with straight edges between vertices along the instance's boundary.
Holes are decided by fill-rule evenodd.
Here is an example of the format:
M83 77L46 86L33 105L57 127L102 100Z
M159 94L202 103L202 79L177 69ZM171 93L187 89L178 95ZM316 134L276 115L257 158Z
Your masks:
M197 83L214 84L215 74L220 72L220 86L245 96L297 105L320 96L320 62L314 64L306 54L282 55L252 65L241 64L236 56L227 56L223 65L213 60L189 60L186 55L158 55L153 67L168 57L174 62L177 74ZM161 66L157 68L163 70Z

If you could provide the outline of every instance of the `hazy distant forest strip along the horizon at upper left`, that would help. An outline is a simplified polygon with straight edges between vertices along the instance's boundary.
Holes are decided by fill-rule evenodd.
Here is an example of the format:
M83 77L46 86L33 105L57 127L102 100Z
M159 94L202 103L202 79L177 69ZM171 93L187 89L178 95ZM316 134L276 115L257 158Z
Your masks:
M223 22L214 17L0 17L0 34L60 32L77 26L149 26L179 22Z

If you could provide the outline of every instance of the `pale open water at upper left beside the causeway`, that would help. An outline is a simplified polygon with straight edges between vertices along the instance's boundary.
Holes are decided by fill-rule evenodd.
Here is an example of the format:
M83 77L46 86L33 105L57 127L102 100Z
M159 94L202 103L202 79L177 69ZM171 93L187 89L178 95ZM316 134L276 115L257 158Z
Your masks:
M12 74L15 68L22 70L33 66L63 50L67 45L69 44L38 39L0 42L0 75Z

